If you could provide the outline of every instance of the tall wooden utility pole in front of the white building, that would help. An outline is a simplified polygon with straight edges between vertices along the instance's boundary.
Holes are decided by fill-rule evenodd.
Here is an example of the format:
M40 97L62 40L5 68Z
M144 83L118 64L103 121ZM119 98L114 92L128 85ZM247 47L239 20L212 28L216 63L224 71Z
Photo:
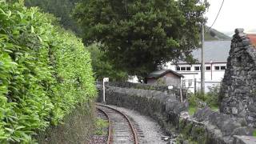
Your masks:
M203 15L202 15L203 17ZM201 23L201 43L202 43L202 50L201 50L201 93L205 94L205 55L204 55L204 45L205 45L205 23L202 20Z

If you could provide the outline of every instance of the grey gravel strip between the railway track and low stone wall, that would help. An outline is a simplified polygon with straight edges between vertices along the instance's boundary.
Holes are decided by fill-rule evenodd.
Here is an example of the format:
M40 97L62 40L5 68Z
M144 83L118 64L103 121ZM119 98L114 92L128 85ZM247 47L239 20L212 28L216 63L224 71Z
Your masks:
M134 122L138 123L138 126L140 126L143 135L145 138L143 138L143 143L148 144L166 144L164 140L162 140L162 136L165 136L166 134L163 133L163 130L161 130L161 127L158 125L157 122L154 122L154 120L150 117L143 116L142 114L139 114L135 110L129 110L123 107L118 106L112 106L117 110L122 111L124 114L126 114L128 117L132 118Z

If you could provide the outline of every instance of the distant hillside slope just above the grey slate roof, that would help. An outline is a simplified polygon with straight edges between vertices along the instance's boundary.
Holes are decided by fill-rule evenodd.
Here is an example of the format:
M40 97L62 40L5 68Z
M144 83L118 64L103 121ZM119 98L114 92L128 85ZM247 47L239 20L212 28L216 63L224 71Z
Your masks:
M206 26L206 30L208 30L208 26ZM231 38L226 34L219 32L218 30L210 29L205 34L206 41L217 41L217 40L230 40Z

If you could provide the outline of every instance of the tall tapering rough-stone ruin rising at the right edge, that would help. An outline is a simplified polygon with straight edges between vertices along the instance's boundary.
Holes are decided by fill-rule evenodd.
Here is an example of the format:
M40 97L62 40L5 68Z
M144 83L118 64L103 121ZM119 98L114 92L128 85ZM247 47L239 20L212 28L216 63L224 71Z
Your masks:
M246 118L256 126L256 49L243 29L236 29L220 92L221 112Z

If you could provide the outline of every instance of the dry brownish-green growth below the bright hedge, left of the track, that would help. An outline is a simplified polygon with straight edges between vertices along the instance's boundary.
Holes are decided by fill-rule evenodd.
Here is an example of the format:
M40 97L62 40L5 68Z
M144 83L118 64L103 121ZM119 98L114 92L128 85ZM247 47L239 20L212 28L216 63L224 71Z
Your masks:
M35 136L38 143L89 143L94 134L94 101L77 105L62 122L38 132Z

